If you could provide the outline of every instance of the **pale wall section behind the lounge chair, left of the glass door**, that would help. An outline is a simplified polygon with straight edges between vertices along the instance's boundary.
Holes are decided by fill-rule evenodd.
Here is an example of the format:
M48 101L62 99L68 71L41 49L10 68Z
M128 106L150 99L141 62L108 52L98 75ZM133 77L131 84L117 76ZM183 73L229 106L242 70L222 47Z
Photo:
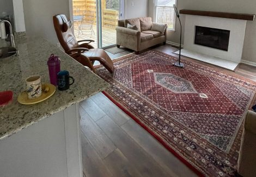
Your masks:
M23 0L23 8L27 35L42 36L55 45L52 16L65 14L69 19L69 0Z

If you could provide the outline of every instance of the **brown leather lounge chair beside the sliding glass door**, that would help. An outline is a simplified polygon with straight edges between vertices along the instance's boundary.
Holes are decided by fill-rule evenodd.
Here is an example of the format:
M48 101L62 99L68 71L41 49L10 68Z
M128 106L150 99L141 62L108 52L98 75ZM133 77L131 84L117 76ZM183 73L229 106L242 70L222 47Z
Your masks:
M71 31L72 21L68 21L65 15L58 14L53 16L53 24L58 36L60 45L64 48L65 52L72 58L77 60L84 66L88 66L95 72L93 63L95 60L99 61L109 72L114 71L114 64L109 58L108 54L101 48L94 48L89 45L93 40L77 41ZM78 44L78 42L87 42Z

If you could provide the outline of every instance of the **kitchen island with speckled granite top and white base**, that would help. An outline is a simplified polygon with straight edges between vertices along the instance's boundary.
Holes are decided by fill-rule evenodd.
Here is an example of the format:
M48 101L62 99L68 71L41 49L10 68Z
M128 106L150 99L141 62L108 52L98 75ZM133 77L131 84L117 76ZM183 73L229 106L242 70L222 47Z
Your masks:
M42 38L20 36L15 42L20 56L0 60L0 91L14 93L13 101L0 107L0 176L81 177L79 103L109 84ZM21 105L17 96L26 90L28 76L50 83L51 53L75 83L43 102Z

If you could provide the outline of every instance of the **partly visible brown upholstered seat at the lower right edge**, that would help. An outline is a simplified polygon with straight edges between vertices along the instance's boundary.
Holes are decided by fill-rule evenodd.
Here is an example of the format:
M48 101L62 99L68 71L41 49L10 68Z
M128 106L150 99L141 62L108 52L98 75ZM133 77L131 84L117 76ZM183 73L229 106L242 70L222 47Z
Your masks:
M243 177L256 176L256 113L252 111L245 118L237 171Z

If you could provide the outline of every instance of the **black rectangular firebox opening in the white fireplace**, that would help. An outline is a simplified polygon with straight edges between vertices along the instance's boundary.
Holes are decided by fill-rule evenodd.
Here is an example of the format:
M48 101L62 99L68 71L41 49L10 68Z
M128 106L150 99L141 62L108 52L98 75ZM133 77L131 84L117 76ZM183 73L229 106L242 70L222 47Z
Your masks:
M230 30L196 26L194 44L228 51Z

